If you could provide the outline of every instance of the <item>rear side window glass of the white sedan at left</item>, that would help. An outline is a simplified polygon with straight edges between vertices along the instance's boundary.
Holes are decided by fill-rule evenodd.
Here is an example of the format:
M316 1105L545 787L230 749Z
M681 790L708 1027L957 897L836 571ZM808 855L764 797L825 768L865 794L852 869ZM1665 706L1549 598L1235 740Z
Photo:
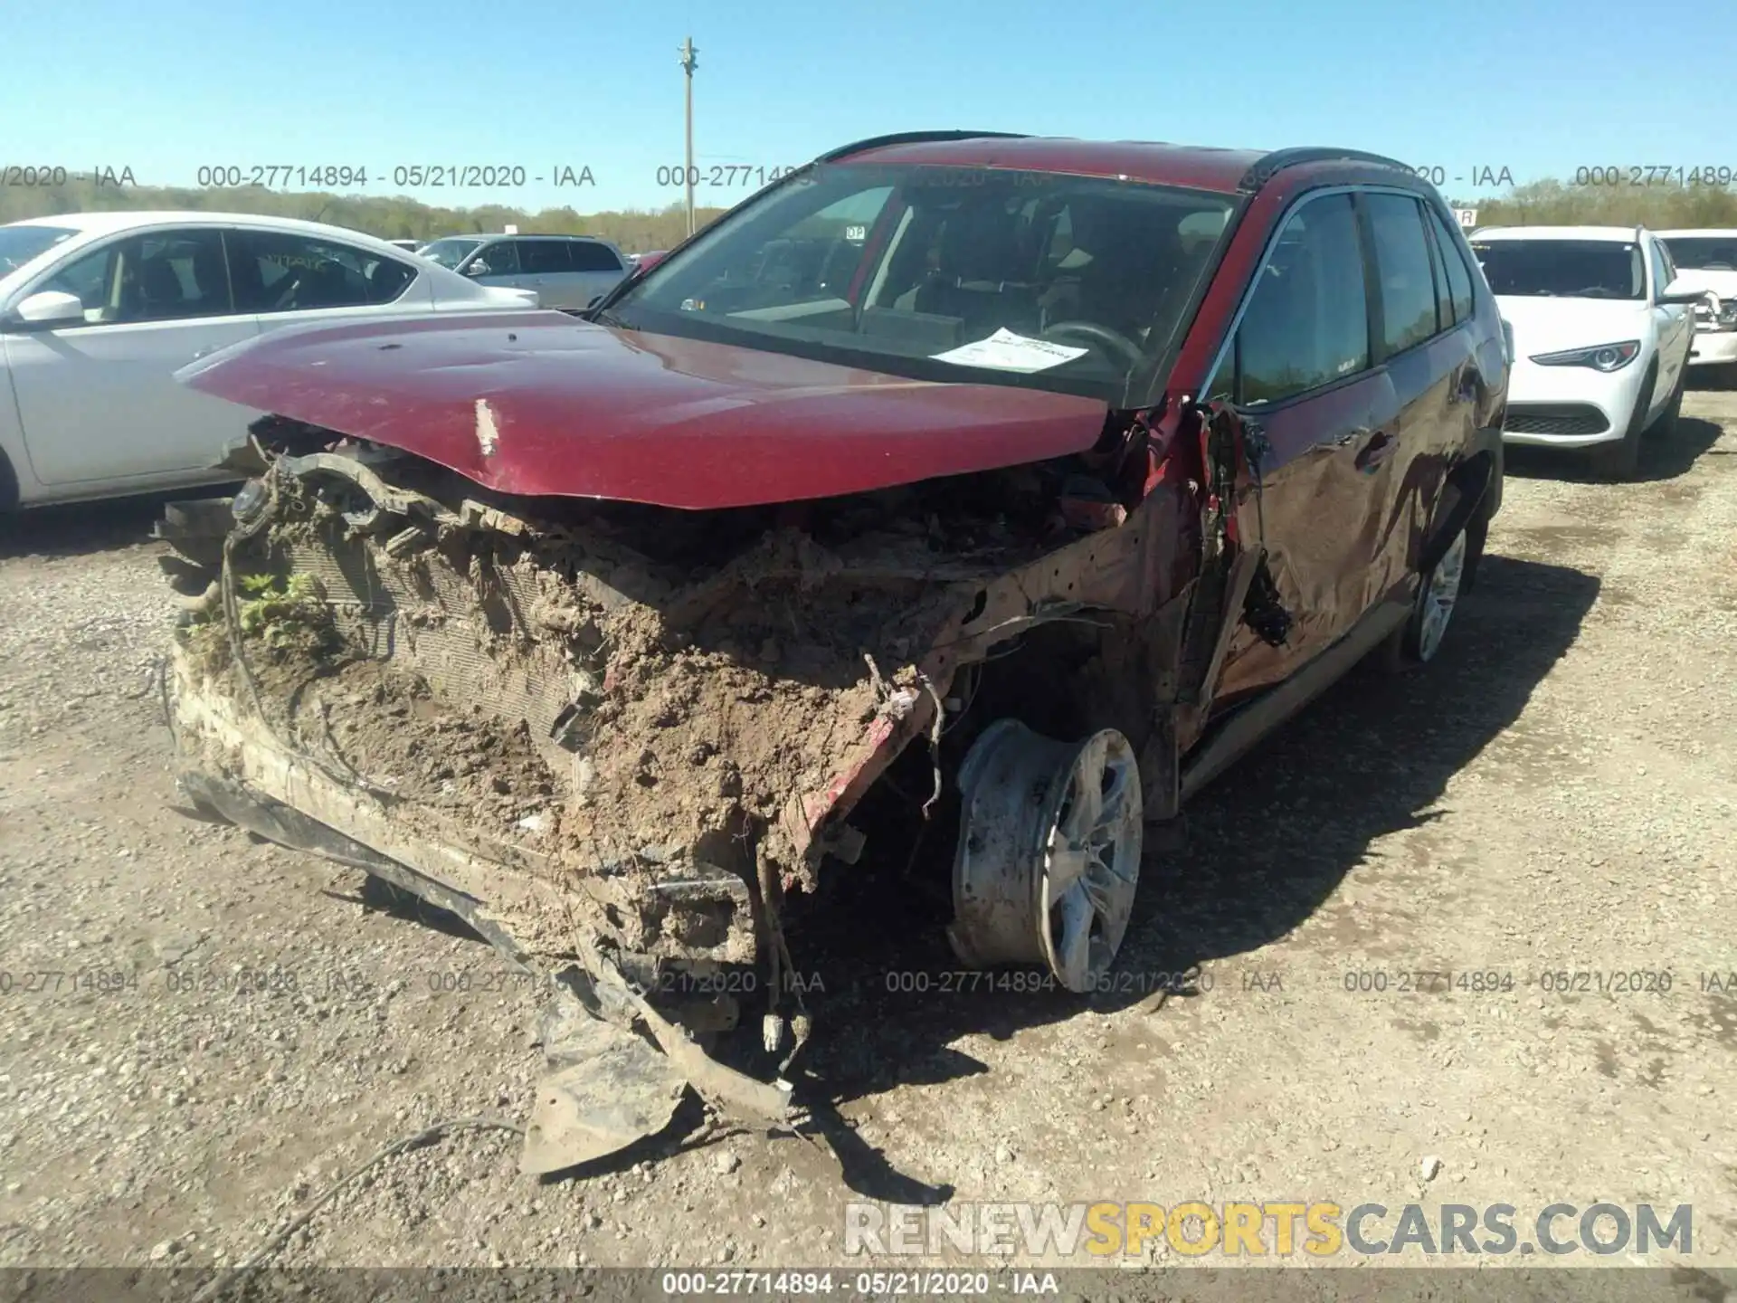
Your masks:
M398 259L283 231L229 231L229 274L241 311L387 304L417 273Z

